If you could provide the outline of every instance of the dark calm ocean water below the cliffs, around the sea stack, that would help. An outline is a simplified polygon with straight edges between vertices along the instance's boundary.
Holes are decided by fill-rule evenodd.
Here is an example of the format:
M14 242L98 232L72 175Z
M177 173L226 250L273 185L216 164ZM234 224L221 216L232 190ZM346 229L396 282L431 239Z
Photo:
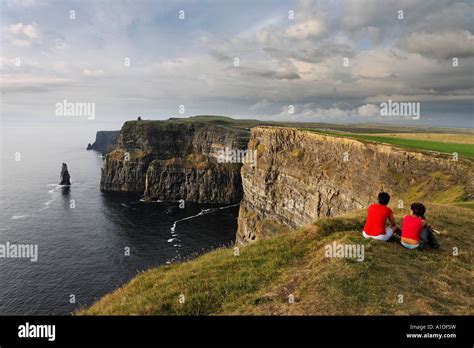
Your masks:
M96 130L2 127L0 315L69 315L139 272L234 240L238 206L101 192L102 158L85 149ZM63 162L69 188L58 185ZM37 260L2 257L20 245Z

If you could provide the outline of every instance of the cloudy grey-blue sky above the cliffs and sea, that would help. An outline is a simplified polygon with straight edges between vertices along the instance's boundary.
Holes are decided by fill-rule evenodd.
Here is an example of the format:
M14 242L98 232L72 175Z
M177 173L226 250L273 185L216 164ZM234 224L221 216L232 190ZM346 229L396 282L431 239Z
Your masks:
M4 122L47 122L66 99L117 125L218 114L473 126L473 1L0 3ZM380 116L389 99L420 103L420 120Z

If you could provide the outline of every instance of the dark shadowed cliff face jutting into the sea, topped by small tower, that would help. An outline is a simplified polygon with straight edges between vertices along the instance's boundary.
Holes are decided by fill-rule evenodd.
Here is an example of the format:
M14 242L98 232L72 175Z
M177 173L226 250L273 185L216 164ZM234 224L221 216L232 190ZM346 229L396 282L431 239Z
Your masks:
M247 141L247 132L201 122L129 121L104 160L101 189L147 199L237 203L241 165L217 163L217 153L244 149Z

